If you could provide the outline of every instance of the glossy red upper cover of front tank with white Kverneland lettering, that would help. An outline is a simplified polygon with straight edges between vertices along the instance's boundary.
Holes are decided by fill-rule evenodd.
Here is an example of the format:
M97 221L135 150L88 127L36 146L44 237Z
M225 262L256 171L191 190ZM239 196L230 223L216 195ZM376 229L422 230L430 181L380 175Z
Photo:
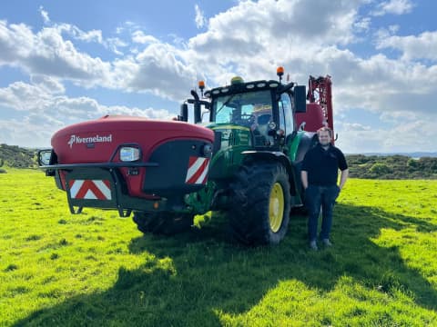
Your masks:
M159 144L184 139L213 143L214 133L185 122L107 115L59 130L51 144L58 163L102 163L113 160L122 144L136 144L147 160Z

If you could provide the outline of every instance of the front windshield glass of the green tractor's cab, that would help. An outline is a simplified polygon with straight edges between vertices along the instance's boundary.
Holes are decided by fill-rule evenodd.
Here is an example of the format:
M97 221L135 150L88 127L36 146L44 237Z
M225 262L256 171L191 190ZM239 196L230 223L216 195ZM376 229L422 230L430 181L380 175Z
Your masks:
M272 120L269 90L219 96L212 105L218 124L240 124L253 129L256 124L269 124Z

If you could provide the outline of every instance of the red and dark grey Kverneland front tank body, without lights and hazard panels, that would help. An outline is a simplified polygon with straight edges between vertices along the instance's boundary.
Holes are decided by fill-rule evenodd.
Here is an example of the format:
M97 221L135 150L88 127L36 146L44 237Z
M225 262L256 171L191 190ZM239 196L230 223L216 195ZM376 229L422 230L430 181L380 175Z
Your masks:
M52 146L59 164L120 163L120 147L132 144L141 151L141 163L159 160L158 169L141 167L135 174L129 173L128 168L119 168L128 193L137 197L148 197L159 188L160 193L167 191L162 188L194 188L196 185L188 185L189 181L186 182L189 162L193 155L202 156L198 154L202 144L213 143L214 133L202 126L131 116L104 116L73 124L52 137ZM60 174L64 189L66 173L64 171ZM93 179L93 176L86 178ZM206 179L202 183L204 181ZM149 184L153 186L152 189L147 188ZM197 183L196 187L200 186L201 183Z

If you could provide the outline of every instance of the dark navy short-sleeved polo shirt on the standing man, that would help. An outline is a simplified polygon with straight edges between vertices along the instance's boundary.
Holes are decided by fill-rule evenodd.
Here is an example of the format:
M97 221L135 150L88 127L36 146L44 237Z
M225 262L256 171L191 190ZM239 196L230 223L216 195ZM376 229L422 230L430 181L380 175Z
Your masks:
M348 169L348 163L340 149L333 145L325 150L317 144L305 154L302 162L302 171L308 173L308 183L311 185L336 185L339 169Z

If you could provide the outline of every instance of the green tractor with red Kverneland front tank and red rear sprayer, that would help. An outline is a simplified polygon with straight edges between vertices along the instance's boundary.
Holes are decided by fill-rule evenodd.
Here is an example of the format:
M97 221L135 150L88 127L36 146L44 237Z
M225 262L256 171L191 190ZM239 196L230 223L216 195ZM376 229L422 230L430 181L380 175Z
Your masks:
M220 212L237 243L279 243L303 205L300 163L317 129L333 124L330 76L310 76L307 94L282 83L282 67L277 74L209 90L199 82L173 121L107 115L67 126L39 152L40 167L66 191L71 213L133 213L142 233L171 235Z

